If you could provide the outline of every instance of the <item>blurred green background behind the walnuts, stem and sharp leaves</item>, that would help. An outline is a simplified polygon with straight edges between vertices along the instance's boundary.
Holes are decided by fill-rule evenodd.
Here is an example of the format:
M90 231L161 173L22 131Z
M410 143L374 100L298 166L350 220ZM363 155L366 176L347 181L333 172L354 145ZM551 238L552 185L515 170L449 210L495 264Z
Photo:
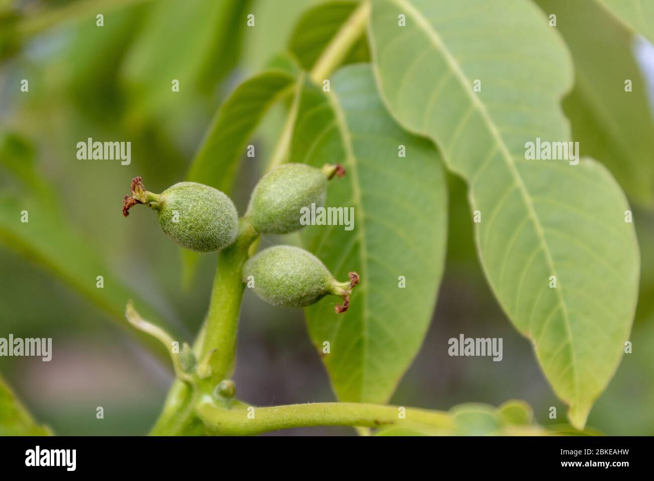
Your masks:
M152 320L192 340L209 303L216 255L201 255L192 279L182 283L180 249L146 209L124 219L122 196L136 175L154 192L182 180L222 99L284 50L294 22L315 3L0 0L0 336L52 337L54 350L49 363L0 357L0 372L57 434L143 435L158 416L173 378L169 361L129 330L124 302L132 296L137 307L138 300L152 306ZM16 7L24 18L12 13ZM67 9L63 20L48 18L55 7ZM101 28L96 13L104 14ZM249 13L256 27L246 27ZM22 41L9 38L14 28L24 28ZM651 65L652 54L643 62ZM20 91L22 79L29 92ZM180 80L179 93L171 92L172 79ZM284 108L267 114L252 139L256 158L243 160L233 194L240 213L274 149ZM76 145L88 137L131 141L131 164L78 160ZM448 409L517 398L534 408L540 423L563 422L566 410L530 344L487 287L466 189L454 177L450 205L438 306L392 402ZM23 209L31 233L20 231ZM654 214L634 207L634 219L642 281L633 353L589 418L608 435L654 435ZM102 295L95 287L99 275ZM449 357L447 340L461 332L504 338L503 362ZM267 306L247 290L234 379L238 397L260 406L334 401L303 313ZM104 419L96 419L97 406ZM547 416L549 406L557 406L556 421ZM354 431L286 434L294 433Z

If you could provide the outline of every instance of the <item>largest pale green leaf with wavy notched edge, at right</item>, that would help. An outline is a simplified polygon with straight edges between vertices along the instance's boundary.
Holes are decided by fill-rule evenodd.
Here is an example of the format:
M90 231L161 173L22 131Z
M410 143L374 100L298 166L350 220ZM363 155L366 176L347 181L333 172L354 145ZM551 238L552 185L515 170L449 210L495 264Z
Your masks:
M582 427L630 332L638 245L625 196L600 164L526 160L526 142L570 140L562 40L523 0L379 0L370 33L388 108L467 181L490 286Z

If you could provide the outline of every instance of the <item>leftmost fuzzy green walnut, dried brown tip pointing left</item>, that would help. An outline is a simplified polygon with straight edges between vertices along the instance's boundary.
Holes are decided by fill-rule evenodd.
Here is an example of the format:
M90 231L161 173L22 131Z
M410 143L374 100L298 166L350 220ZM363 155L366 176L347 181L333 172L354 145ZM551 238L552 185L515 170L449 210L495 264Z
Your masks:
M155 209L163 232L192 251L224 249L238 233L239 216L232 200L208 185L180 182L153 194L145 190L141 177L135 177L131 196L123 199L123 215L127 217L136 204Z

